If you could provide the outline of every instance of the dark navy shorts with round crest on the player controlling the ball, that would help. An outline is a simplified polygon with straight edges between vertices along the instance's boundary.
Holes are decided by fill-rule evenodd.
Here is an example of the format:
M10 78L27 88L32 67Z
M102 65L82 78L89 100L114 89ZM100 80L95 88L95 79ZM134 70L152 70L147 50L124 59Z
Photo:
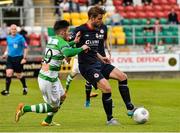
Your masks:
M101 62L92 65L79 64L81 75L97 89L97 82L101 79L109 79L109 75L115 67Z

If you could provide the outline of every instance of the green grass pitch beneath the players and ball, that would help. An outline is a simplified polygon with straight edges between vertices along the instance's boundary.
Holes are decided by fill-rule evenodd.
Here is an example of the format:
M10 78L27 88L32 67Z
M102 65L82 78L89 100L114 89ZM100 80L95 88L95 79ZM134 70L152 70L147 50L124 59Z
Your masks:
M129 80L132 101L144 106L150 112L147 123L138 125L126 115L126 109L119 95L117 82L111 81L113 110L121 125L106 126L106 117L101 103L101 92L91 100L91 107L84 107L84 80L74 80L68 97L54 121L59 127L41 127L45 114L27 113L19 123L14 122L19 102L38 104L43 102L36 79L27 79L29 93L22 95L20 81L13 79L11 94L0 96L0 131L2 132L180 132L180 79ZM63 85L65 81L62 81ZM5 81L0 80L0 88Z

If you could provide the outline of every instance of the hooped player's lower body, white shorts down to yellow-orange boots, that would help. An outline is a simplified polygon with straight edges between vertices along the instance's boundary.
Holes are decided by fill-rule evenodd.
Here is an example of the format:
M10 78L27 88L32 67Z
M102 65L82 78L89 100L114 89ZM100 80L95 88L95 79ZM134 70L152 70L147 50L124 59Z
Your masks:
M54 113L56 113L60 107L61 95L62 97L65 97L65 92L64 90L59 89L60 85L58 82L59 81L55 83L51 83L44 79L38 78L39 87L43 94L45 103L40 103L36 105L24 105L20 103L16 110L15 121L18 122L20 117L27 112L48 113L47 117L42 122L42 125L43 126L50 125Z

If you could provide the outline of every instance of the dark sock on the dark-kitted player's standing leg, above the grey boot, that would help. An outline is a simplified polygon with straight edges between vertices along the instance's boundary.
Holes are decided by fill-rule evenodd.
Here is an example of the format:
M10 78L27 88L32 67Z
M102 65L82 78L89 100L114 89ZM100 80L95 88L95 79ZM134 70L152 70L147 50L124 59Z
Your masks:
M111 93L102 93L103 107L107 115L107 120L111 120L112 116L112 98Z

